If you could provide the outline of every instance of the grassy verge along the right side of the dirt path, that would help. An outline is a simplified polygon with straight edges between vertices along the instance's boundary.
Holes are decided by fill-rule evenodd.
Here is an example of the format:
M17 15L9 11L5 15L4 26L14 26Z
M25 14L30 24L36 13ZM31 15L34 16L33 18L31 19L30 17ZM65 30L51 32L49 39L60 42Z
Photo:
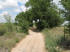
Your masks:
M59 39L63 36L63 27L53 29L44 29L45 45L48 52L61 52L58 44Z

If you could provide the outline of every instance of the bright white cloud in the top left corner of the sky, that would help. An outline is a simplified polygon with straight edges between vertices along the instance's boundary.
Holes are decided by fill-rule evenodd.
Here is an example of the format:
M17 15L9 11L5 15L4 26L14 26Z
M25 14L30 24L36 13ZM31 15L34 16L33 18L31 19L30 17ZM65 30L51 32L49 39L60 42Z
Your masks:
M17 0L5 0L5 1L0 1L0 5L3 7L16 7L18 6Z

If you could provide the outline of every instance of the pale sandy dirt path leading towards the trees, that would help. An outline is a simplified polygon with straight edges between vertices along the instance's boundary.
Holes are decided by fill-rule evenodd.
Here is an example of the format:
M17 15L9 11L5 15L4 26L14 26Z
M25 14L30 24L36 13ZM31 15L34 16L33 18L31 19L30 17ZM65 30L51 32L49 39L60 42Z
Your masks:
M46 52L42 34L31 30L29 32L30 35L18 43L11 52Z

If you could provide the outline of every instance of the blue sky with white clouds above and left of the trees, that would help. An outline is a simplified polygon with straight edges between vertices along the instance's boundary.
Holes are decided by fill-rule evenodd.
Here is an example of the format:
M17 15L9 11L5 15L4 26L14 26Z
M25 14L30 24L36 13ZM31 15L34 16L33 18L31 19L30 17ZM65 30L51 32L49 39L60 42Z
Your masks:
M10 15L14 21L16 15L26 11L25 3L28 0L0 0L0 23L5 22L4 15ZM54 0L59 5L60 0ZM60 7L60 6L59 6Z

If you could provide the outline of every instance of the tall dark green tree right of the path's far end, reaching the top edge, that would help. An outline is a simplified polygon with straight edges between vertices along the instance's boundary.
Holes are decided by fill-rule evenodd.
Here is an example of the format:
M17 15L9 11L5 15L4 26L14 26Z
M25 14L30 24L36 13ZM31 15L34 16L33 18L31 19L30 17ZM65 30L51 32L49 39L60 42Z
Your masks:
M50 2L52 2L52 0L29 0L26 3L29 4L28 6L31 6L32 18L34 20L40 20L40 25L37 25L37 27L55 27L62 23L62 18L59 15L57 7Z

